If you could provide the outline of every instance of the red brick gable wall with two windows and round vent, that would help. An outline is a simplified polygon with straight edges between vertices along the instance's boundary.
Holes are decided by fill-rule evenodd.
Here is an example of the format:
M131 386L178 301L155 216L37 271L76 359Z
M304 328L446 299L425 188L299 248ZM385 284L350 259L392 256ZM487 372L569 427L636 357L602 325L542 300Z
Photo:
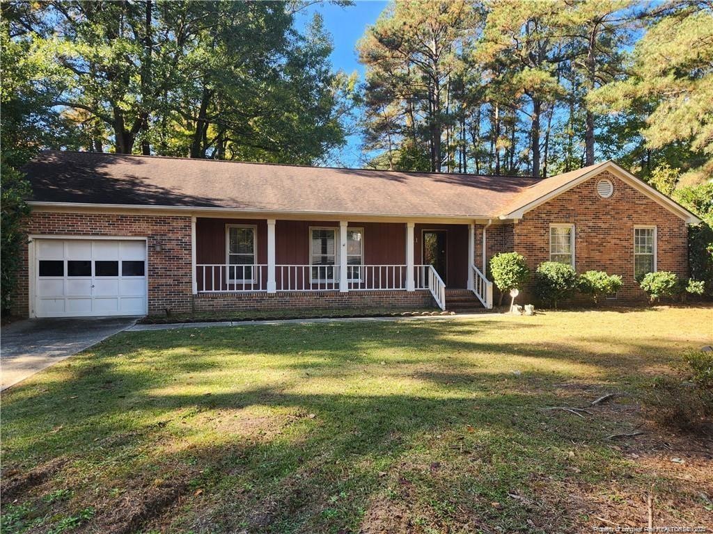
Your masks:
M597 182L614 185L608 199L597 194ZM657 270L688 275L687 225L657 202L609 173L602 173L528 211L513 225L514 248L534 271L549 261L549 226L575 225L575 269L621 275L620 299L641 299L645 293L634 280L634 226L657 226ZM520 302L531 299L523 295Z

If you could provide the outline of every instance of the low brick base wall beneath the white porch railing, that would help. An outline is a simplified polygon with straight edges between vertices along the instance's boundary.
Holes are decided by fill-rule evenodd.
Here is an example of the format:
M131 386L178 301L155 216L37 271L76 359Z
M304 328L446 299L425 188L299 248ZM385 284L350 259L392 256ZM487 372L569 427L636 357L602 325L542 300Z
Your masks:
M304 308L434 308L427 290L417 291L293 291L286 293L198 293L193 298L197 312L240 310L299 310Z

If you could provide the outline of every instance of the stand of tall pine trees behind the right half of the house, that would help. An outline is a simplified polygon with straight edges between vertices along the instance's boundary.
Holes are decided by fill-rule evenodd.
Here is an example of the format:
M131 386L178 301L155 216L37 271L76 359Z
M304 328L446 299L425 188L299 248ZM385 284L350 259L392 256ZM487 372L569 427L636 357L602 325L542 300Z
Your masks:
M359 58L369 167L713 176L709 2L396 0Z

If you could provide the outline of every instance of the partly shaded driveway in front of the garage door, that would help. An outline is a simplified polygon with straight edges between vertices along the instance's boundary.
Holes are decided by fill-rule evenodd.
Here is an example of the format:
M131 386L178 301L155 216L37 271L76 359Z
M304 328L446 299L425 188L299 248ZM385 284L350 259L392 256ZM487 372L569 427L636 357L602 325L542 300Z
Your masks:
M0 330L0 389L132 326L135 317L28 319Z

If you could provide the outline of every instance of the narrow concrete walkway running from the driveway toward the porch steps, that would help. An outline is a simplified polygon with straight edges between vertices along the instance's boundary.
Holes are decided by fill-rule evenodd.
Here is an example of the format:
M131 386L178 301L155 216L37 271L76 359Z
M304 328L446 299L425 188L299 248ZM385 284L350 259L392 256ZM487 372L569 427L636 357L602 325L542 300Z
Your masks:
M411 317L343 317L343 318L320 318L320 319L270 319L257 321L222 321L220 323L174 323L171 325L135 325L127 330L129 332L145 332L148 330L175 330L176 328L210 328L216 326L249 326L249 325L285 325L298 324L309 325L312 323L352 323L359 322L392 322L392 321L425 321L441 320L452 321L457 319L483 319L488 320L498 317L499 313L460 313L458 315L416 315Z

